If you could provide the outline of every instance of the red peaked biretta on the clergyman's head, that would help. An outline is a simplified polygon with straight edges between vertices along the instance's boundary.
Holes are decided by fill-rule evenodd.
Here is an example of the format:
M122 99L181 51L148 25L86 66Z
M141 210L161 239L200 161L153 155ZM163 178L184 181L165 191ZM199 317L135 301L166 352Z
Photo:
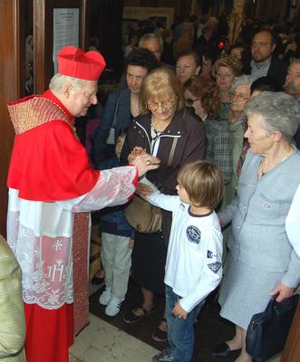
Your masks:
M57 59L60 74L87 81L97 81L106 65L100 52L82 52L72 45L64 46Z

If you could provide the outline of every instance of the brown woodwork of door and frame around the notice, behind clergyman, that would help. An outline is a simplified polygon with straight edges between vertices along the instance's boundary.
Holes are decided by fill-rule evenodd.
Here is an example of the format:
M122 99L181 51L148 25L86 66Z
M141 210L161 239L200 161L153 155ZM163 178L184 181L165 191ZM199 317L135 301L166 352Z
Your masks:
M30 2L30 6L28 6ZM0 0L0 233L6 233L6 178L15 132L7 103L24 97L25 22L34 33L34 93L43 93L53 76L53 9L79 8L79 46L86 49L90 0ZM33 12L25 19L28 9Z

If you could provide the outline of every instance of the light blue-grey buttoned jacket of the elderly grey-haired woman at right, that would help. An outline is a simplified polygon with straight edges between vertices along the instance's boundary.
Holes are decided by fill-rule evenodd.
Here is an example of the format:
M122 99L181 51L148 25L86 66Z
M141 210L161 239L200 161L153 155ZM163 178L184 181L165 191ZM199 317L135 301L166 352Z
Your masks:
M285 233L285 218L300 180L300 151L287 157L260 179L261 156L247 152L239 176L237 197L218 213L222 224L231 221L228 247L234 260L261 271L285 272L282 282L300 282L300 258Z

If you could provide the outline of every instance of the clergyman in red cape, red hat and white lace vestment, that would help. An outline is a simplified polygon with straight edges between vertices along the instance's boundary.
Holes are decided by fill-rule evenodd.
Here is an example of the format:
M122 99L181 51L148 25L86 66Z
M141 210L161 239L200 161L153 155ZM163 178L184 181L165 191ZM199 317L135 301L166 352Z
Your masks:
M74 333L88 322L89 211L125 204L138 176L158 167L96 171L73 129L97 103L105 62L99 52L66 46L43 96L8 106L15 145L7 179L7 241L23 272L27 362L66 362Z

